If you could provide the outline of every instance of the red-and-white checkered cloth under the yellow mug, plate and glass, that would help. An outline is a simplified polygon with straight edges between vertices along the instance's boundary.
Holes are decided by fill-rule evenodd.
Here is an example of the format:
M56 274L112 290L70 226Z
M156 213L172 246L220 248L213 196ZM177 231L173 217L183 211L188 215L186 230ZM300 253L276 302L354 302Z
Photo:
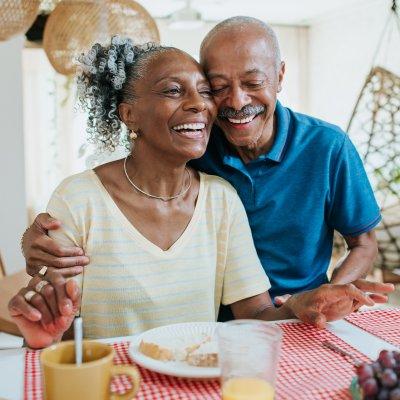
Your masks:
M277 400L341 400L350 399L348 386L355 374L353 366L342 356L323 347L322 341L330 340L361 360L363 354L327 330L317 330L302 323L282 323L282 351L279 361ZM128 342L113 344L115 364L133 364L128 354ZM40 351L27 350L25 354L24 399L41 400ZM139 367L142 382L138 400L214 400L220 399L217 380L191 381L157 374ZM117 378L112 389L123 392L129 381Z

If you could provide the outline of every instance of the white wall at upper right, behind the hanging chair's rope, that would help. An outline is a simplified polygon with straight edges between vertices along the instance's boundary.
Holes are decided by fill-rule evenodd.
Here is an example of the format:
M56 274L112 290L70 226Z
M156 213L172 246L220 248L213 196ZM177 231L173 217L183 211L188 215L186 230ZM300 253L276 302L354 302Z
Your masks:
M309 28L310 114L347 127L389 14L391 0L365 0L312 22ZM392 28L394 26L392 25ZM400 74L400 36L387 36L377 61Z

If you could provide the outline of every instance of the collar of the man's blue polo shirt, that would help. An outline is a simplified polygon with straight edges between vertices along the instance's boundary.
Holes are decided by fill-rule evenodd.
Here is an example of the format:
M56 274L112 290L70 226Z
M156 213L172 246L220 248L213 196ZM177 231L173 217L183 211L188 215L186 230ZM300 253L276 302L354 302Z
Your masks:
M289 133L290 116L288 110L283 107L278 100L276 101L275 118L276 132L274 143L267 153L261 154L256 160L253 160L255 162L263 160L281 162L283 156L285 155ZM222 155L224 164L238 168L242 164L241 159L236 154L229 151L228 141L225 139L222 130L220 130L219 134L220 140L218 140L219 143L217 144L217 146L219 147L219 153Z

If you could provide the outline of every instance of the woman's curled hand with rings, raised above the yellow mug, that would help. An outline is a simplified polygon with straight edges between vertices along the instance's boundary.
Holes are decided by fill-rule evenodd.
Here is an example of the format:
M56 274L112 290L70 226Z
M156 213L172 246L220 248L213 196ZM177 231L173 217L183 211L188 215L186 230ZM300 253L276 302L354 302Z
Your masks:
M42 286L40 293L37 286ZM36 289L36 290L35 290ZM24 297L36 292L29 302ZM11 317L31 348L43 348L60 341L71 326L80 306L80 290L74 280L66 281L58 270L49 268L44 277L32 278L8 303Z

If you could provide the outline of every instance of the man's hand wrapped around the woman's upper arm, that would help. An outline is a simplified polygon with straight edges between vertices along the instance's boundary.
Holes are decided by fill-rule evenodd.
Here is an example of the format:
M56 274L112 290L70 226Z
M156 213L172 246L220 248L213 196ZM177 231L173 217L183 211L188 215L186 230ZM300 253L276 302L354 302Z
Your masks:
M80 247L60 246L47 236L49 230L58 229L61 222L49 214L39 214L32 226L24 233L21 247L26 260L26 271L33 276L46 265L60 268L65 277L75 276L89 264L89 258Z

